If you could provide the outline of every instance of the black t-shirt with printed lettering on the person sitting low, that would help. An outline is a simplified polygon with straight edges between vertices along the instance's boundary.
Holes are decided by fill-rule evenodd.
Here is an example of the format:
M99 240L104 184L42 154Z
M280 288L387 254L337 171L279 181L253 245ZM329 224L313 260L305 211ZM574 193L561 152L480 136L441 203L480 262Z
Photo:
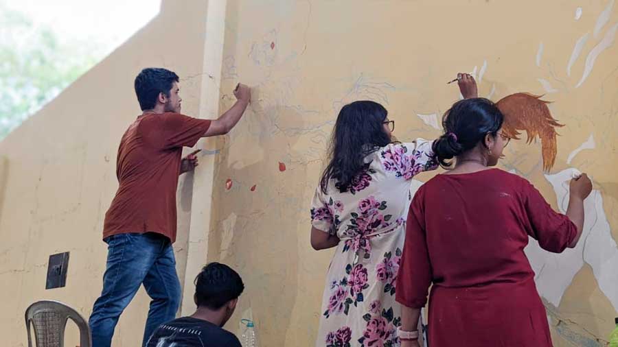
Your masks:
M147 347L242 347L233 333L197 318L183 317L161 324Z

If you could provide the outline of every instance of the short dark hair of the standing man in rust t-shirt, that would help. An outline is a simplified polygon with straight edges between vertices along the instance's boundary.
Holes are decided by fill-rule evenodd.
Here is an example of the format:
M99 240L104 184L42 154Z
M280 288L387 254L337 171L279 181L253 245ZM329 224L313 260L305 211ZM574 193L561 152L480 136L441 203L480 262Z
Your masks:
M168 69L149 67L142 70L135 77L135 94L141 110L155 108L159 93L170 97L172 86L178 81L178 75Z

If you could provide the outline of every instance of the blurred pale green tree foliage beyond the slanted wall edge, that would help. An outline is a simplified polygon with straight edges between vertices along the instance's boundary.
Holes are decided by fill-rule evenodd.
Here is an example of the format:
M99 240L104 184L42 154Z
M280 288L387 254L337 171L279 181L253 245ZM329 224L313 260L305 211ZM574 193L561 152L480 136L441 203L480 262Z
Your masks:
M98 61L92 42L61 43L0 1L0 139Z

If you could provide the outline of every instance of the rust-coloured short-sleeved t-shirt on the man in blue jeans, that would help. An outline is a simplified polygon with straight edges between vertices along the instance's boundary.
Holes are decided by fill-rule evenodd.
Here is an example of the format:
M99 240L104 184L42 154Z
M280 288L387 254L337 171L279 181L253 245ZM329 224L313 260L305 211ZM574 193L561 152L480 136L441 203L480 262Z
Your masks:
M193 147L209 126L209 119L173 112L137 117L118 148L119 187L105 214L103 239L157 232L176 241L176 186L183 146Z

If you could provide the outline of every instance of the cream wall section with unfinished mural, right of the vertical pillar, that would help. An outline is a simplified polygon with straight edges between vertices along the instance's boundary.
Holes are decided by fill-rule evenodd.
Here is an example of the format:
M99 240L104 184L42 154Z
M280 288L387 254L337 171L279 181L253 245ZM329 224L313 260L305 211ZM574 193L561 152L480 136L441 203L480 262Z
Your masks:
M221 261L238 265L248 273L248 281L260 285L260 292L248 289L241 310L251 310L258 322L268 323L271 317L265 312L279 312L277 331L264 327L269 344L284 346L302 340L310 346L317 335L321 276L330 254L315 253L306 243L308 202L334 119L344 104L358 99L380 102L397 122L398 139L433 139L441 131L439 117L456 99L453 88L443 93L444 81L465 67L474 67L471 74L479 83L479 95L498 100L505 114L504 131L520 140L512 141L501 167L529 179L548 202L565 211L569 180L579 171L590 174L596 169L591 163L598 160L600 144L605 141L607 145L610 138L610 127L598 124L609 122L611 116L604 112L612 110L614 101L584 115L581 110L571 112L573 100L593 104L600 99L599 90L616 91L612 80L604 87L598 74L613 73L609 61L615 56L618 16L614 0L599 1L602 5L597 4L594 11L592 5L572 4L571 10L560 12L556 25L578 24L577 30L569 32L572 38L549 30L546 34L539 29L540 22L535 22L535 30L525 34L505 29L513 36L511 46L518 48L496 51L488 40L475 47L476 51L464 51L461 60L442 58L448 46L459 41L452 33L443 35L437 30L429 37L412 35L413 43L402 47L393 45L400 36L374 23L379 22L374 14L380 11L391 16L394 12L422 12L426 18L438 15L439 11L419 3L407 3L394 11L361 1L354 11L367 20L363 25L340 18L334 21L330 16L333 6L341 5L334 3L271 0L258 7L240 1L242 6L233 8L226 21L222 108L232 102L227 93L237 80L246 80L255 93L247 117L218 155L214 219L221 235L211 240L211 247L218 248ZM474 11L484 8L480 1L472 7ZM247 20L254 12L263 15L260 21ZM440 18L443 14L439 12ZM419 32L429 25L421 22L401 25L409 32ZM324 27L334 29L327 32ZM486 27L479 32L487 32ZM441 40L448 37L448 42L434 45L434 34ZM384 41L390 45L381 45ZM518 73L511 72L514 68ZM442 90L435 90L437 84ZM598 175L591 177L594 182ZM426 179L419 178L413 187ZM585 320L573 318L569 310L575 300L568 292L582 269L589 266L598 283L584 285L595 291L595 297L590 299L591 294L583 300L599 301L602 296L612 304L612 311L618 311L618 274L611 272L618 268L618 247L612 235L616 218L608 191L597 183L586 200L584 234L576 248L549 254L530 240L525 249L553 333L558 335L556 346L602 346L606 328L597 322L610 318L588 308L582 310ZM251 278L253 274L265 275ZM575 287L579 290L582 285ZM276 297L265 294L273 290ZM298 331L295 326L299 324L308 328Z

